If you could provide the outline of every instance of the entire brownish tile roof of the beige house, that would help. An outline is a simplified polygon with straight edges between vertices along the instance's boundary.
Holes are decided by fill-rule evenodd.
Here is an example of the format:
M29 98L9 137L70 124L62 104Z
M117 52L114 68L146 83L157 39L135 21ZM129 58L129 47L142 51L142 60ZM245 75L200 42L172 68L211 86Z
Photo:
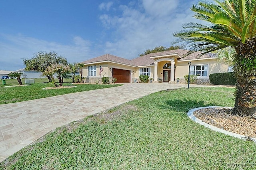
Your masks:
M143 65L153 65L154 59L150 57L156 57L156 56L162 56L162 55L172 55L172 54L179 54L182 58L178 59L179 61L183 60L190 60L190 59L198 59L200 57L200 54L202 52L194 52L188 55L188 50L186 49L174 49L170 51L162 51L157 53L150 53L147 55L143 55L141 57L137 57L135 59L129 60L122 57L117 57L115 55L111 54L105 54L96 58L92 58L86 61L83 61L81 63L87 64L87 63L94 63L94 62L100 62L100 61L114 61L117 63L127 64L127 65L133 65L133 66L143 66ZM187 55L187 56L186 56ZM216 57L215 53L207 53L202 55L200 58L213 58Z

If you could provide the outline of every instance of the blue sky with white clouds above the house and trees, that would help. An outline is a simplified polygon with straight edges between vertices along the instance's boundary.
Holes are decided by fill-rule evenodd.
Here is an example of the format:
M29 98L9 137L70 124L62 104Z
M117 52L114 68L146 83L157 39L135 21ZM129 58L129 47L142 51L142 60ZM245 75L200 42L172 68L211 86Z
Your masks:
M199 22L198 0L5 0L0 2L0 70L24 68L22 58L55 51L68 62L106 53L134 59L169 47L182 24Z

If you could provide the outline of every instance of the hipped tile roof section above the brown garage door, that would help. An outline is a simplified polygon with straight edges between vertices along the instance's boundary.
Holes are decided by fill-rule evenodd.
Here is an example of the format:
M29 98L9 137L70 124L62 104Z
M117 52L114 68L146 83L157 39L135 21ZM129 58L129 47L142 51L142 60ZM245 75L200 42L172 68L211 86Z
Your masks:
M102 56L99 56L96 58L92 58L92 59L83 61L81 63L87 64L87 63L94 63L94 62L99 62L99 61L114 61L114 62L128 64L128 65L135 65L135 63L132 62L131 60L117 57L117 56L111 55L111 54L105 54L105 55L102 55Z

